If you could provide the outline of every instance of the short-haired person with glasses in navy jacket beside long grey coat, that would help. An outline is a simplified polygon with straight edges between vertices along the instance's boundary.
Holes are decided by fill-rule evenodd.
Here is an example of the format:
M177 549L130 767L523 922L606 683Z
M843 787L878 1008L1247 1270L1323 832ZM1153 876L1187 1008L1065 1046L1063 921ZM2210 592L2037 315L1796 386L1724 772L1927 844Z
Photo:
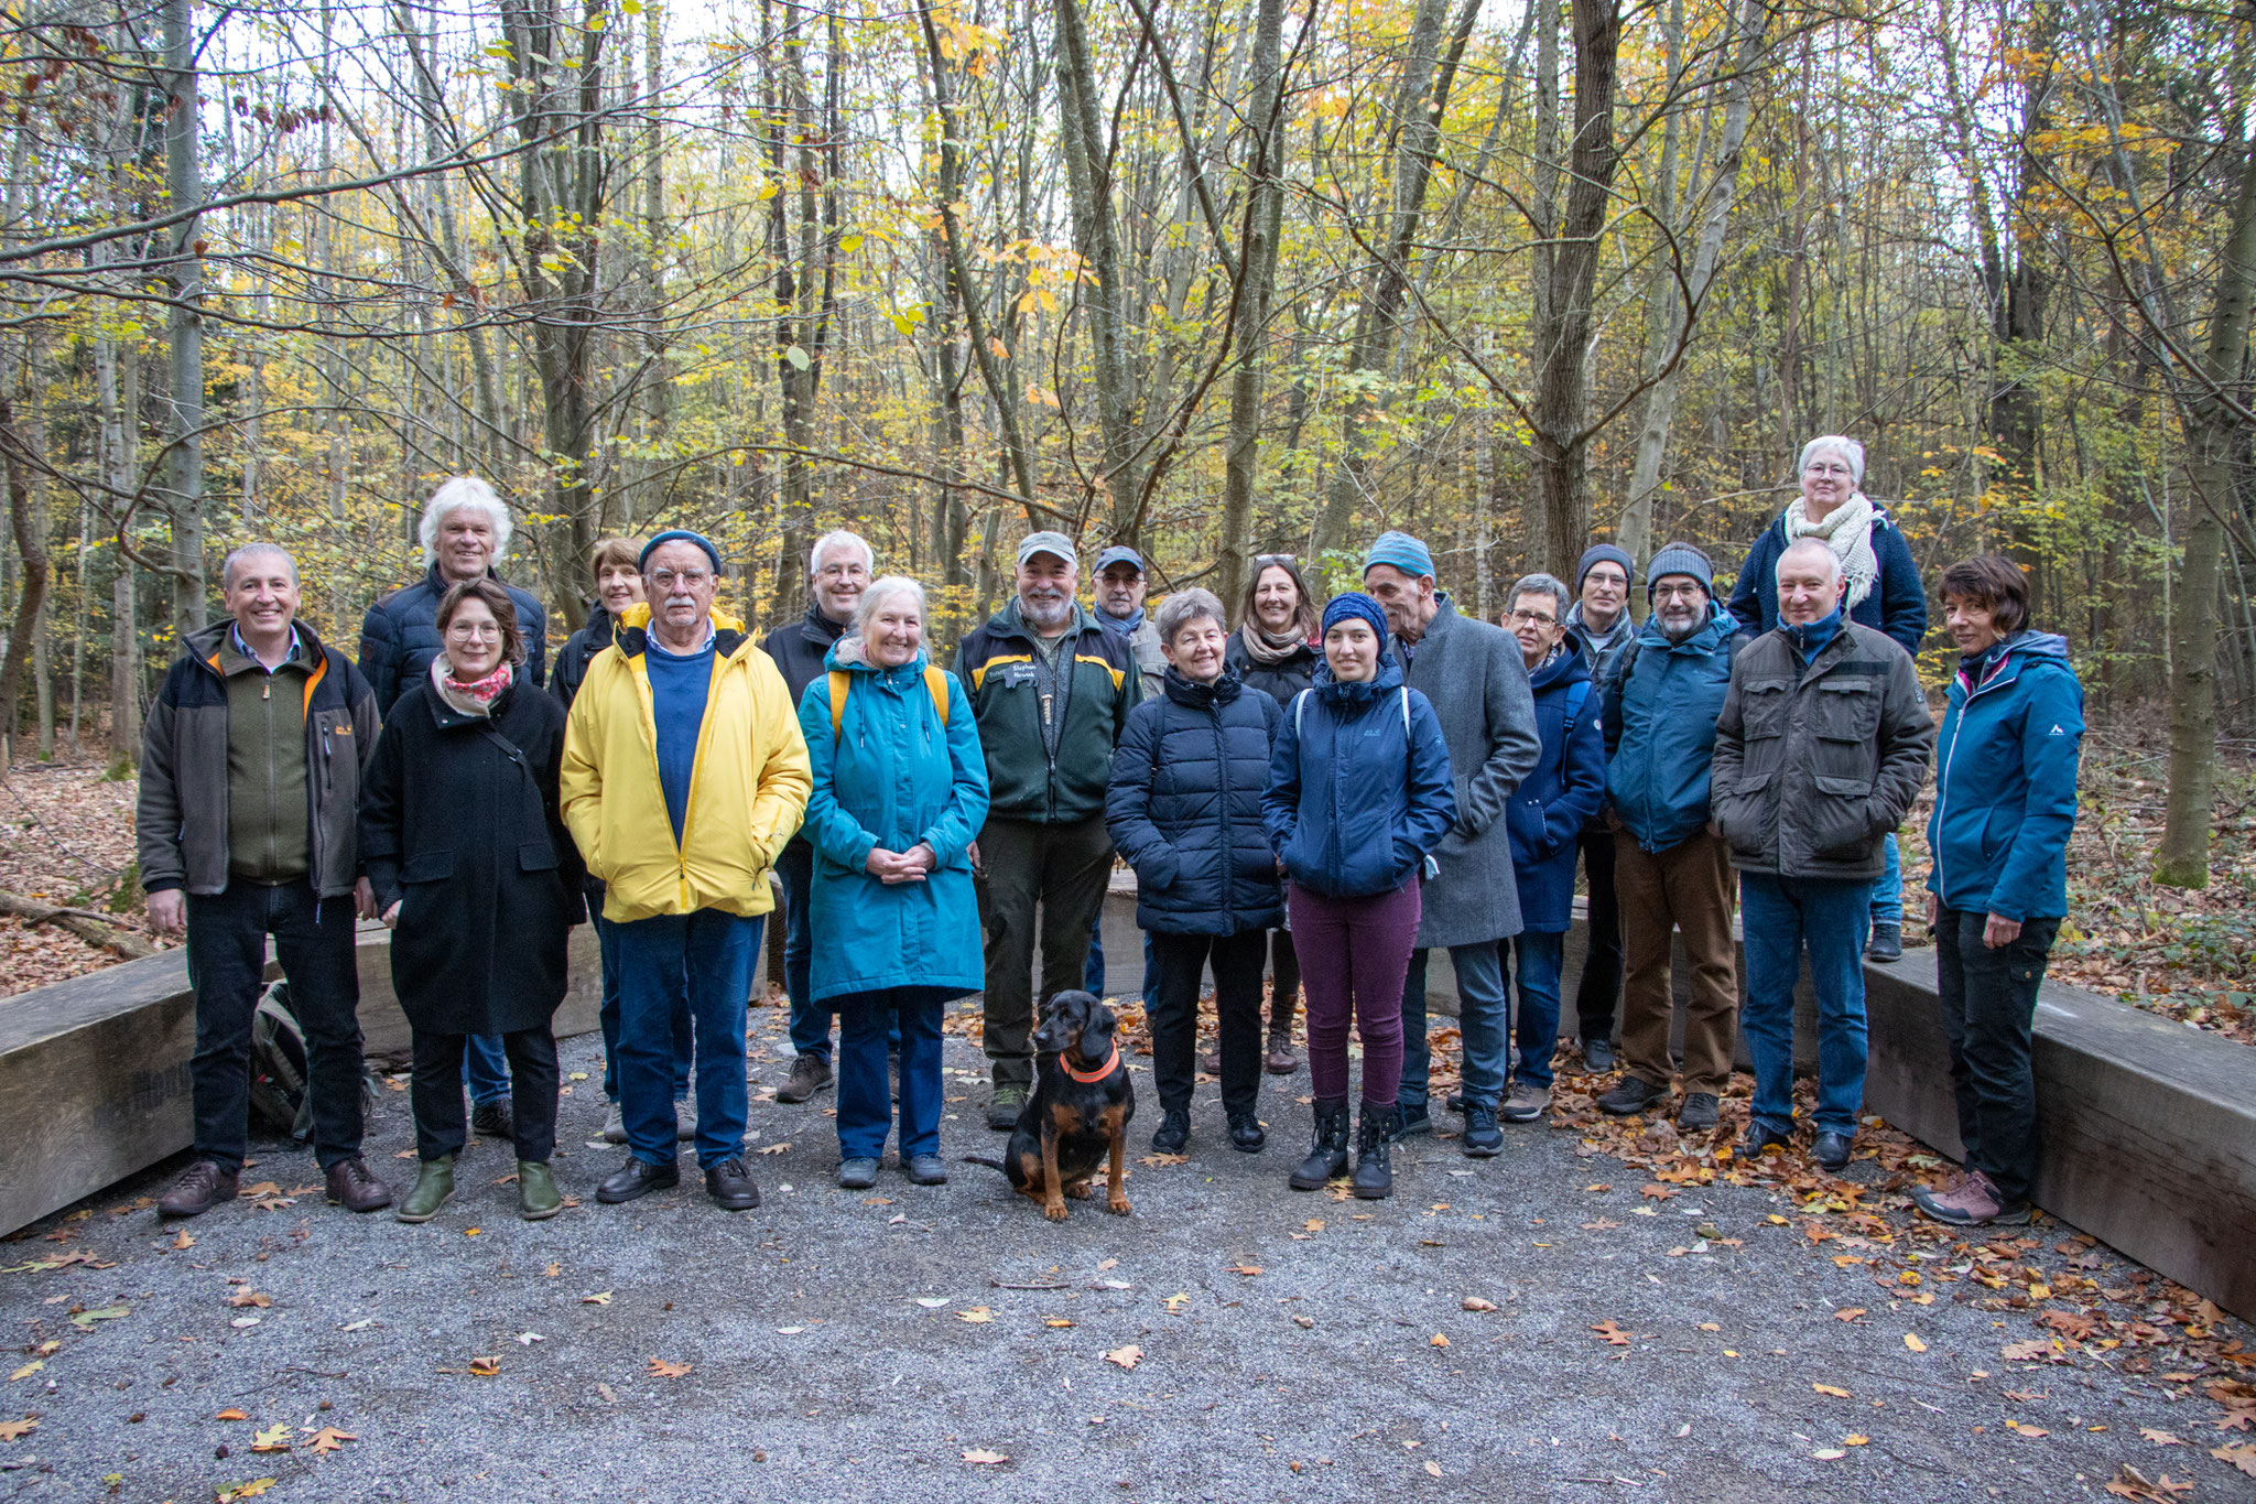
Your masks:
M1588 661L1566 625L1570 609L1572 598L1554 575L1525 575L1505 598L1505 625L1521 643L1543 740L1534 771L1505 805L1512 877L1521 891L1521 934L1509 943L1518 967L1518 1058L1496 1114L1505 1123L1532 1123L1550 1105L1559 972L1575 918L1575 855L1584 821L1606 800L1606 737Z

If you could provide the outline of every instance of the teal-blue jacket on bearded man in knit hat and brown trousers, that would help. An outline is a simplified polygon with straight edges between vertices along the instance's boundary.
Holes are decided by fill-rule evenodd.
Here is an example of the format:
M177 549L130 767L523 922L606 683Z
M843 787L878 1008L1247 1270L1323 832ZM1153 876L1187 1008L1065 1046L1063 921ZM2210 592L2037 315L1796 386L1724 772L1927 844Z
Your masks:
M1649 852L1663 852L1708 823L1708 762L1715 717L1730 692L1739 622L1708 607L1708 625L1683 643L1645 618L1638 636L1606 661L1606 798Z

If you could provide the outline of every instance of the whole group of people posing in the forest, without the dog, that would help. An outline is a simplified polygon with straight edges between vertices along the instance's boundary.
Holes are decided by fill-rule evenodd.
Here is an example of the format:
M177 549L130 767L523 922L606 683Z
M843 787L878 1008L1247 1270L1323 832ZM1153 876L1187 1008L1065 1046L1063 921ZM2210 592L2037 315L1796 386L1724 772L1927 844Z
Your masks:
M431 498L429 573L370 609L359 665L296 618L289 555L248 543L226 561L228 620L187 643L147 722L142 875L151 918L187 929L199 997L194 1161L160 1209L235 1195L266 936L327 1195L393 1204L361 1157L356 915L393 927L413 1026L402 1220L440 1211L469 1132L514 1141L521 1215L562 1206L550 1017L582 918L602 954L605 1139L627 1150L596 1197L677 1184L693 1139L713 1202L756 1206L744 1035L772 873L794 1049L776 1098L835 1085L841 1186L873 1186L889 1139L909 1182L941 1184L943 1008L981 994L986 1121L1013 1127L1038 1006L1103 990L1117 861L1144 931L1157 1152L1189 1145L1200 1064L1230 1145L1263 1150L1261 1076L1297 1069L1304 997L1313 1130L1290 1184L1351 1175L1387 1195L1390 1148L1433 1132L1428 956L1446 947L1462 1064L1444 1107L1464 1154L1498 1154L1502 1125L1550 1100L1581 866L1568 1053L1622 1071L1597 1105L1715 1130L1744 1035L1742 1148L1789 1148L1807 956L1809 1152L1839 1170L1863 1096L1861 967L1900 954L1895 830L1938 740L1911 658L1927 593L1861 480L1861 446L1812 440L1728 607L1710 559L1669 543L1645 561L1642 622L1638 561L1611 543L1572 586L1521 577L1491 625L1403 532L1331 600L1261 555L1234 609L1191 586L1148 616L1133 548L1099 555L1090 607L1072 539L1033 532L952 670L923 586L878 577L853 532L814 543L805 616L760 643L717 607L706 537L607 539L546 683L539 602L494 573L510 514L474 478ZM2035 1177L2030 1024L2066 913L2082 692L2010 561L1954 564L1940 586L1960 665L1927 918L1967 1161L1920 1204L2012 1222ZM1207 976L1218 1049L1200 1062Z

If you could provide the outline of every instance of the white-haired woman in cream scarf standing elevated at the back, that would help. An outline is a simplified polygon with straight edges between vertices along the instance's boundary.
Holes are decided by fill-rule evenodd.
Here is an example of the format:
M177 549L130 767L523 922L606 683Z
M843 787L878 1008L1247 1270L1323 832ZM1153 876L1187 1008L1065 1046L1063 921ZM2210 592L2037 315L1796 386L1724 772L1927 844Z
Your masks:
M1800 492L1755 546L1746 550L1730 613L1748 636L1778 627L1778 557L1798 539L1832 550L1848 580L1843 620L1893 638L1913 658L1927 638L1927 586L1902 528L1863 494L1863 444L1825 433L1803 444L1796 465ZM1904 954L1904 857L1895 832L1882 843L1882 875L1872 884L1872 938L1866 956L1900 961Z

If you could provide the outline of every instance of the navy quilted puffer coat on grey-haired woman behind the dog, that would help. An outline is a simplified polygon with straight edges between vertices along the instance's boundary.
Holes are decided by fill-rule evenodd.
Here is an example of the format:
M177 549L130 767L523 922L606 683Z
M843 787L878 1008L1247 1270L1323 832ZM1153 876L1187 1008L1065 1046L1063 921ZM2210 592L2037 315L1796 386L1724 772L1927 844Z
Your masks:
M1135 922L1171 936L1284 924L1277 852L1261 828L1277 701L1223 672L1166 670L1128 713L1105 785L1105 828L1135 868Z

